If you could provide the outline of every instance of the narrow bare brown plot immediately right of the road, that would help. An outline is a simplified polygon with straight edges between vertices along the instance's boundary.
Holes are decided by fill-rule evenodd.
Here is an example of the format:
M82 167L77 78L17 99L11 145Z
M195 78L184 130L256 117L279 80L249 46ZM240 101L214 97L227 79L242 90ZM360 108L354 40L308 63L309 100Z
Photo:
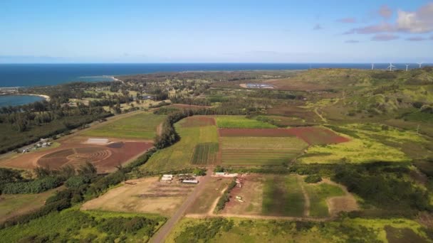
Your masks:
M189 207L188 214L208 214L214 211L214 203L226 190L231 178L213 177L207 181L204 190Z

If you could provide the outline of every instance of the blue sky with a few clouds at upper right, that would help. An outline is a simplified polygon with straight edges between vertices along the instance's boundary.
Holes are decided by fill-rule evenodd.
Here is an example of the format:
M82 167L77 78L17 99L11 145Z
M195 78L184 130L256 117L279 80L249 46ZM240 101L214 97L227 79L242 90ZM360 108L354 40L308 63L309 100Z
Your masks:
M433 63L433 1L0 1L0 63Z

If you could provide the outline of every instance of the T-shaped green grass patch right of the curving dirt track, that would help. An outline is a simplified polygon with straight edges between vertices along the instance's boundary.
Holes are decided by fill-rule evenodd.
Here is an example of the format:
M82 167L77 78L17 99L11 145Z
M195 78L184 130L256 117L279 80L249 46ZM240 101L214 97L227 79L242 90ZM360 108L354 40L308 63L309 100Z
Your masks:
M319 185L306 184L305 187L310 198L311 217L328 217L326 199L345 195L341 188L327 183L320 183Z

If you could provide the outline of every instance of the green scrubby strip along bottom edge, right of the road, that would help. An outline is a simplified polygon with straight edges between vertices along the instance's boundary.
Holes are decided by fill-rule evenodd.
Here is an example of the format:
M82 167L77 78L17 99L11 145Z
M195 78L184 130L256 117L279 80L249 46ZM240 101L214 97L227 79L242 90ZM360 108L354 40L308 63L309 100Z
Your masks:
M424 229L418 222L402 218L333 222L184 218L166 242L429 242Z

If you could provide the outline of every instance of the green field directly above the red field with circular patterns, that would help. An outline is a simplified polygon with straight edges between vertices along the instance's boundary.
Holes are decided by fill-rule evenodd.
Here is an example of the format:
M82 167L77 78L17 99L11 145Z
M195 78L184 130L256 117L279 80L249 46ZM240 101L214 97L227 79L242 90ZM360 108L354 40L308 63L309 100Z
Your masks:
M107 121L95 129L89 129L83 136L102 136L121 139L154 139L157 126L164 121L164 115L150 113L135 114L115 121Z

